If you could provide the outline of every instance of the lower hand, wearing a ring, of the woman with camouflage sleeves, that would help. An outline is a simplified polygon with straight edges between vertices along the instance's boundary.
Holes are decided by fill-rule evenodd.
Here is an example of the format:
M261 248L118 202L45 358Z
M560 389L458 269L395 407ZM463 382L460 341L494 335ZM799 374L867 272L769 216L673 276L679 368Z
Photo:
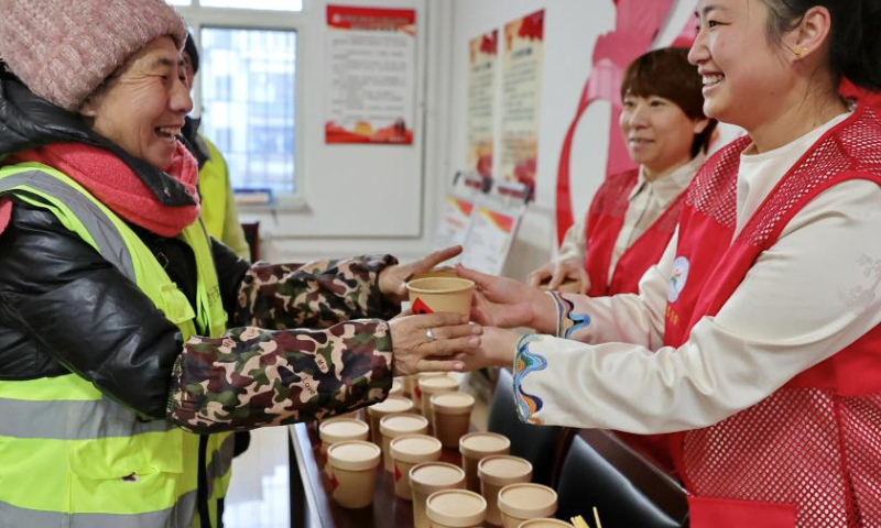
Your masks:
M468 324L468 316L427 314L400 316L389 321L394 375L461 371L465 356L480 346L483 329Z

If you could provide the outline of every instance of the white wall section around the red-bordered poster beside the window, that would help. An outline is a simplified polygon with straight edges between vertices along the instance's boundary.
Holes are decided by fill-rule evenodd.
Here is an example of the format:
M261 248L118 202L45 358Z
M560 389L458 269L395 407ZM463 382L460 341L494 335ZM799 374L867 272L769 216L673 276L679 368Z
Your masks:
M436 1L436 0L435 0ZM350 4L416 10L416 122L413 145L327 145L324 142L326 82L326 4ZM428 123L425 112L426 67L432 22L428 0L306 0L306 21L298 32L297 184L305 206L265 211L242 208L241 218L260 220L262 257L273 262L303 262L326 256L392 252L403 258L429 246L426 222L435 215L426 182L425 143L445 123ZM437 16L437 21L442 18ZM435 47L439 47L436 46Z

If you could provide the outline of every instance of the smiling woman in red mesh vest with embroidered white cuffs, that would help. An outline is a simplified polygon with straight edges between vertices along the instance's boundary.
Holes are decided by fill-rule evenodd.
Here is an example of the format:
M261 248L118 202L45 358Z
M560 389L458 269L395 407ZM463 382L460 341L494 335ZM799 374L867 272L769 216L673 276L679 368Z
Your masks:
M881 89L881 2L697 21L704 110L749 136L695 177L639 295L461 270L475 319L545 333L485 328L472 363L513 360L530 422L674 433L693 528L881 526L881 120L836 89Z

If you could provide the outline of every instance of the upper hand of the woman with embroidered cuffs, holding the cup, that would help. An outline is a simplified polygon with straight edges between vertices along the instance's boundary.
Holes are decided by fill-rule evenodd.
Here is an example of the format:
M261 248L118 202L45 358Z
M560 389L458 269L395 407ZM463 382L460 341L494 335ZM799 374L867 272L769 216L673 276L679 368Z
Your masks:
M507 277L486 275L463 265L456 274L474 280L475 297L471 301L471 319L487 327L533 327L547 331L547 321L556 314L553 300L542 292Z

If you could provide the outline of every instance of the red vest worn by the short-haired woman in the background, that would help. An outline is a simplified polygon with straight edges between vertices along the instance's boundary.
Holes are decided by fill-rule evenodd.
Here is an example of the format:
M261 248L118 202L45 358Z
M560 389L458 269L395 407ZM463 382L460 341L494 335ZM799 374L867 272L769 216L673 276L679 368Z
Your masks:
M661 260L676 230L685 193L679 195L655 222L624 251L609 280L609 264L614 242L621 233L628 197L639 179L638 170L627 170L609 178L597 190L585 220L587 256L585 270L590 277L590 297L635 294L642 275Z

